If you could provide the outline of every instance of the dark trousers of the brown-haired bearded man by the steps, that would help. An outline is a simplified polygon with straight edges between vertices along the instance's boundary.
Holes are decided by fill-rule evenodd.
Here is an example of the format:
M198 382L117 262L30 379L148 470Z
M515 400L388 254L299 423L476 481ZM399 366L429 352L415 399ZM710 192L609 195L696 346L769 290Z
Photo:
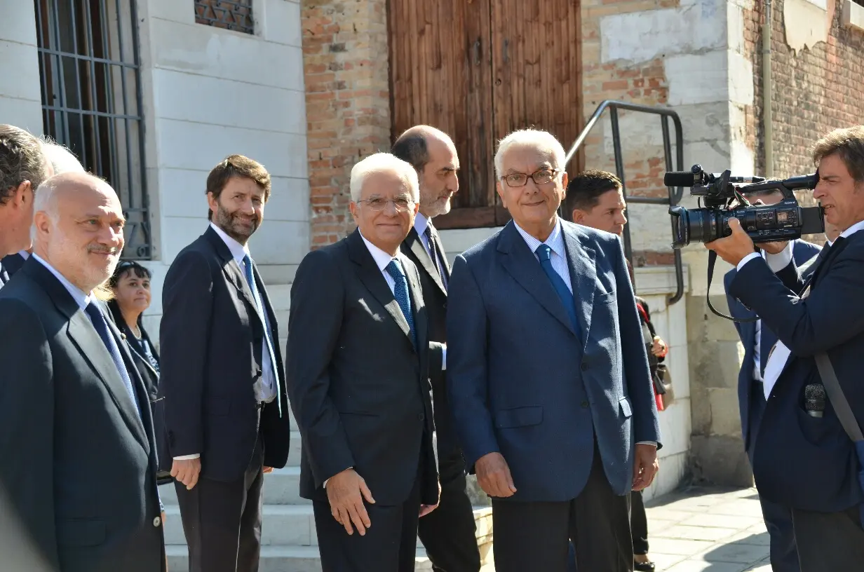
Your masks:
M175 482L190 572L257 572L264 485L261 438L242 479Z

